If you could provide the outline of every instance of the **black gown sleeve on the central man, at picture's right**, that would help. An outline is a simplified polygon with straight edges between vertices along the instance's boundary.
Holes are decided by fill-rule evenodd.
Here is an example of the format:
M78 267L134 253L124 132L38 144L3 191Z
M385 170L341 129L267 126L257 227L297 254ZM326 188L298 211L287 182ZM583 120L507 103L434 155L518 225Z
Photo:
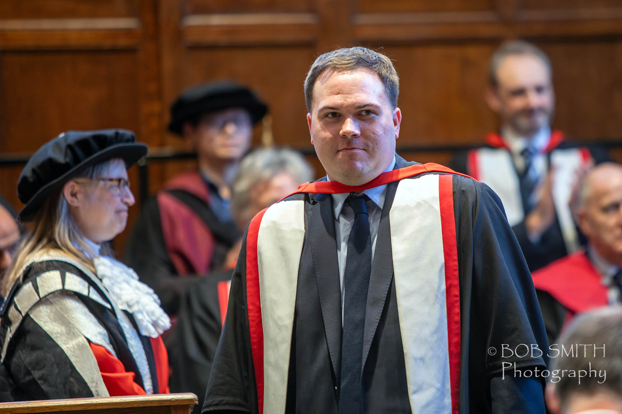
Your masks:
M468 373L461 391L468 389L471 397L461 412L544 413L544 379L533 374L545 368L548 343L529 269L498 196L483 183L453 180L466 324L461 369ZM508 351L517 347L520 356ZM514 376L514 367L531 376ZM490 407L477 407L478 394L490 395ZM469 398L461 393L460 400Z

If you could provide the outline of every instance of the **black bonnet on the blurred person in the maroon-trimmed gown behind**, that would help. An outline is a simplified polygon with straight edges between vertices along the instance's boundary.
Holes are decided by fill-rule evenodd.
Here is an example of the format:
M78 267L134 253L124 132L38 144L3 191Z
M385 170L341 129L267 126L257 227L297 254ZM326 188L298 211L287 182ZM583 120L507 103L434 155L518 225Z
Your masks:
M169 131L182 134L183 122L221 109L240 107L251 114L256 124L268 111L253 91L231 81L202 83L184 91L170 106Z

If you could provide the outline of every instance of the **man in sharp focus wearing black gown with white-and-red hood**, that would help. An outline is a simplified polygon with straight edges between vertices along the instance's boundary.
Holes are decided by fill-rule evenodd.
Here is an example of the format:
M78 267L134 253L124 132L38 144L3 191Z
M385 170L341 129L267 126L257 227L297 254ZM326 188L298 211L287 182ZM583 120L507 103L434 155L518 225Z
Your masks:
M547 347L503 207L395 154L398 88L362 47L310 68L327 177L247 227L204 413L544 413L542 356L502 352Z

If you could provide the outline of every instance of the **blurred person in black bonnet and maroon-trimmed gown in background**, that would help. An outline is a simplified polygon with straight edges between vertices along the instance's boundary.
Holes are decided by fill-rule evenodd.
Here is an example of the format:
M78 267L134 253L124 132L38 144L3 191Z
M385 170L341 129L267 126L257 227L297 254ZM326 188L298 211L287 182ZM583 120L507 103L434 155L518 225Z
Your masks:
M125 254L169 315L179 311L186 284L221 269L241 236L231 216L230 186L253 125L266 113L253 91L232 82L194 86L170 108L169 131L192 145L198 168L172 178L145 203Z

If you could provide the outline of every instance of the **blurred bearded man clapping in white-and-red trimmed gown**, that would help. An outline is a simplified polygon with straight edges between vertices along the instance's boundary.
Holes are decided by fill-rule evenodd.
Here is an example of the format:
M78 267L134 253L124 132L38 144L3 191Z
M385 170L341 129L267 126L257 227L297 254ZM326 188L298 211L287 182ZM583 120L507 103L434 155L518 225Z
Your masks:
M531 271L580 247L569 208L577 176L608 160L605 150L577 147L551 130L552 75L549 57L535 45L502 44L490 60L486 90L499 129L486 136L485 146L457 154L450 163L501 198Z

